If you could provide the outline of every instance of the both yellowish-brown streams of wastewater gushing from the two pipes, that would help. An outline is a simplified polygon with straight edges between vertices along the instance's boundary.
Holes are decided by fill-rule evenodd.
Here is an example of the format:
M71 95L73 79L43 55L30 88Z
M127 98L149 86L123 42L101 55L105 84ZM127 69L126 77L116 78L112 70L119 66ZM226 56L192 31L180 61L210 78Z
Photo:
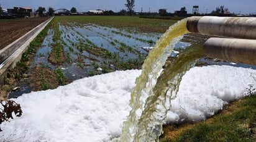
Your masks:
M175 44L185 33L188 31L186 19L183 19L172 25L149 52L131 93L132 111L123 124L120 141L158 141L163 120L170 109L171 96L176 96L181 77L186 70L203 55L201 48L188 48L188 51L181 53L159 76Z

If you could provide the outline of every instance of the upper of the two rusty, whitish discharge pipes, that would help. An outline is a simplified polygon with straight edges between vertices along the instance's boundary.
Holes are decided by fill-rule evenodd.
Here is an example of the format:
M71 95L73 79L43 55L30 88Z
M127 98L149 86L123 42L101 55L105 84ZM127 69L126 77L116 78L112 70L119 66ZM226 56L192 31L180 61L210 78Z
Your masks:
M186 27L202 35L256 40L256 17L190 17Z

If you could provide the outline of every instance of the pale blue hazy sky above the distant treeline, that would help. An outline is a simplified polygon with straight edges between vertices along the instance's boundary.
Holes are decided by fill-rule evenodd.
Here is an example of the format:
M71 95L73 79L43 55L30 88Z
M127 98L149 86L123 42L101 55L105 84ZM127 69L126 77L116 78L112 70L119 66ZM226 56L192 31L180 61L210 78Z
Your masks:
M37 9L39 6L53 7L53 9L65 8L70 10L76 7L78 12L87 12L88 10L113 10L119 12L126 9L124 4L126 0L0 0L3 9L17 7L32 7ZM250 14L256 12L256 0L135 0L135 11L158 12L158 9L167 9L167 12L180 10L186 7L188 13L192 13L192 7L199 6L199 13L209 13L215 10L217 6L224 5L230 12L235 14Z

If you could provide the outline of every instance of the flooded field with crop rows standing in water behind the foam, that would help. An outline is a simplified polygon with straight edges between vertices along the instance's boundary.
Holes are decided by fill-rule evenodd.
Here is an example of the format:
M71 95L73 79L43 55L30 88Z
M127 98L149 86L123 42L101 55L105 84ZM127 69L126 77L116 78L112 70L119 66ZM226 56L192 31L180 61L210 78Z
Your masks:
M111 27L73 17L55 17L43 32L42 44L32 44L32 55L25 53L29 56L27 78L21 79L19 90L12 91L10 97L115 70L141 69L150 49L162 36L156 31ZM179 42L171 57L190 45Z

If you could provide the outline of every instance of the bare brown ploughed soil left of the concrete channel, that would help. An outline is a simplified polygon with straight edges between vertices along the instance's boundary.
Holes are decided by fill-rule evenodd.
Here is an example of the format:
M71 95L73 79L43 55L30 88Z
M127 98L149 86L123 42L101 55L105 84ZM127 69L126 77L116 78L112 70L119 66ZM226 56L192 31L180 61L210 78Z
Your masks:
M0 49L5 48L47 19L49 19L49 17L0 20Z

